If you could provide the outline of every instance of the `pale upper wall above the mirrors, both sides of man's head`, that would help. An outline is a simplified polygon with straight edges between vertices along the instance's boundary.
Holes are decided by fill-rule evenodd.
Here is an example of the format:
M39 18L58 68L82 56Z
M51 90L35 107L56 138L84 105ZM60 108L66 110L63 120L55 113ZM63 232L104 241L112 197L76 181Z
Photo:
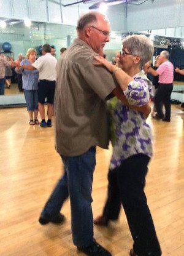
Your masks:
M59 0L55 0L59 3ZM69 4L74 0L62 0L62 4ZM139 1L137 1L138 3ZM91 4L75 4L61 7L59 4L41 0L1 0L0 17L31 18L37 22L61 23L61 10L63 24L76 25L80 15L88 12ZM110 19L112 30L140 31L158 30L160 28L173 28L184 26L183 0L155 0L152 4L147 1L139 6L128 4L128 17L125 18L125 4L109 7L107 16Z

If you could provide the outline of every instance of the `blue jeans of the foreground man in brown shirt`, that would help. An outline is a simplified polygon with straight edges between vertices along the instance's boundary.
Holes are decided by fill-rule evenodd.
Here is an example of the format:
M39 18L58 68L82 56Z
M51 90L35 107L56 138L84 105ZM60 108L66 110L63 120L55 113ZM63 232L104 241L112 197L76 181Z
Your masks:
M86 247L93 243L91 192L96 148L93 146L80 156L61 158L64 163L64 175L45 204L41 217L52 218L58 215L64 201L70 196L72 238L75 246Z

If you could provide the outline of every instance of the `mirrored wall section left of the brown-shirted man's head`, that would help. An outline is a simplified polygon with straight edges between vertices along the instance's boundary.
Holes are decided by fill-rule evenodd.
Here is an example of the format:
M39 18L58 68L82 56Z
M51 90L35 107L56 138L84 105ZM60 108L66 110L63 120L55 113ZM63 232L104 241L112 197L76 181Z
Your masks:
M75 36L75 26L40 22L32 22L31 26L26 26L24 20L9 19L6 20L6 27L0 28L0 50L5 57L17 60L18 54L22 54L24 58L27 50L33 47L39 57L42 54L42 45L48 43L55 46L56 58L59 58L61 47L68 47ZM4 95L15 94L21 92L17 86L17 75L12 68L12 84L9 88L6 87Z

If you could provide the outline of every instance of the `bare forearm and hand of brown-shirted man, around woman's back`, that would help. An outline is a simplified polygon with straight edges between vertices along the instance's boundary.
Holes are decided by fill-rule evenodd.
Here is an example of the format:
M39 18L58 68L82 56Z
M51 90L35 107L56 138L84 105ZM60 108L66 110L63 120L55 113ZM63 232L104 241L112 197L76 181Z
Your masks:
M146 118L149 116L149 114L151 112L150 105L148 103L146 105L144 105L144 106L130 105L128 103L128 100L127 100L126 96L123 94L123 90L121 90L120 86L116 87L112 91L112 94L115 95L119 100L121 100L121 102L123 102L123 104L125 104L126 106L129 106L129 108L132 108L133 110L137 110L140 113L143 113Z

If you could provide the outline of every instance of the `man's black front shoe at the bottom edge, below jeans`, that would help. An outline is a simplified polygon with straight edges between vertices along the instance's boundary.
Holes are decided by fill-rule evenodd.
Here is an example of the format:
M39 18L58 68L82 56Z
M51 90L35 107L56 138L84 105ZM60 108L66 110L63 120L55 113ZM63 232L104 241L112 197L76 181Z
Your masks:
M98 244L95 240L93 240L93 244L91 244L91 246L82 248L77 247L77 249L89 256L112 256L108 250Z

